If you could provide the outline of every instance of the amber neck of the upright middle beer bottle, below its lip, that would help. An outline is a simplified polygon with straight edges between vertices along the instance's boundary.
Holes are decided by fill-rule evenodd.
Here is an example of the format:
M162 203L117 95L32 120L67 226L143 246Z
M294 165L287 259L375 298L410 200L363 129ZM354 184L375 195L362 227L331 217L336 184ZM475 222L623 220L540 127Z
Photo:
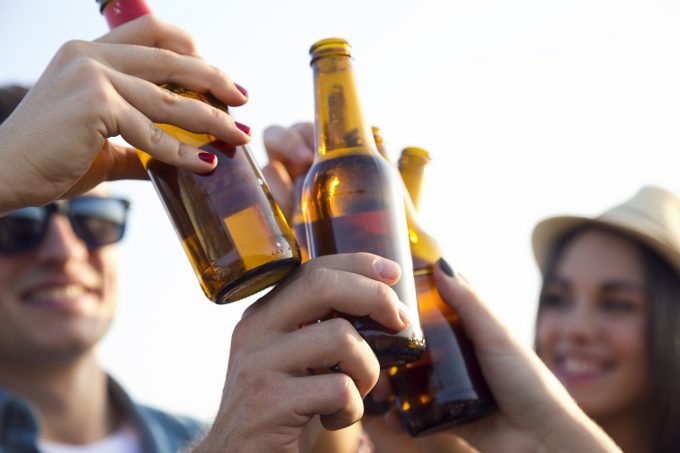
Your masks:
M321 156L338 151L377 154L370 128L364 122L347 55L328 55L312 62L316 107L316 144Z

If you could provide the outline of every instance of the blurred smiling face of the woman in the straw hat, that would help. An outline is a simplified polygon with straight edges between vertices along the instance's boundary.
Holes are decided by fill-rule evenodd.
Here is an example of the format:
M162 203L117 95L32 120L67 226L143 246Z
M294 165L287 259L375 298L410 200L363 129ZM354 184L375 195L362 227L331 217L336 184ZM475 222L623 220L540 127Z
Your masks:
M643 408L645 294L637 246L601 230L571 240L544 282L538 354L595 419Z

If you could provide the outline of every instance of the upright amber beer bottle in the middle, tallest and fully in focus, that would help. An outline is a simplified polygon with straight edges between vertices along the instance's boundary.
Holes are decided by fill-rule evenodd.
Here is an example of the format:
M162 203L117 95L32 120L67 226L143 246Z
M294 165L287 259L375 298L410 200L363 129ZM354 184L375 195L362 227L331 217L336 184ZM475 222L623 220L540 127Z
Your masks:
M373 348L381 366L420 357L418 322L404 202L397 173L375 148L355 87L350 46L324 39L310 49L314 71L316 156L305 178L302 212L311 258L371 252L399 263L394 285L411 324L393 332L368 317L347 317Z

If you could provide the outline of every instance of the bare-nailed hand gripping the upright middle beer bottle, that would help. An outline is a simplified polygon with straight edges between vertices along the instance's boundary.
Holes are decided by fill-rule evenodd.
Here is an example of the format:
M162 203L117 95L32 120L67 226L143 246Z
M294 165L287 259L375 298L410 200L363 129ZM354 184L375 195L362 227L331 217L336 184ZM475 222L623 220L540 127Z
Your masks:
M404 329L388 286L399 277L396 263L375 255L325 256L249 307L232 335L221 408L197 451L297 452L313 444L315 416L328 429L359 420L378 361L350 322L327 317L337 311Z

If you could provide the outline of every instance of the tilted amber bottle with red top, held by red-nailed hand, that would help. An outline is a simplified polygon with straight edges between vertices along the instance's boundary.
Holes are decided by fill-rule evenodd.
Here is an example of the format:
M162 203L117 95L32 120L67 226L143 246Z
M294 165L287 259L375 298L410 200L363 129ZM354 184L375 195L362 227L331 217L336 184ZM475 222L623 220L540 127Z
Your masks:
M151 11L144 0L97 0L111 28ZM163 88L225 112L210 94ZM206 296L219 304L254 294L300 264L300 252L250 149L212 135L158 124L178 140L218 158L217 168L194 174L138 151L172 219Z

